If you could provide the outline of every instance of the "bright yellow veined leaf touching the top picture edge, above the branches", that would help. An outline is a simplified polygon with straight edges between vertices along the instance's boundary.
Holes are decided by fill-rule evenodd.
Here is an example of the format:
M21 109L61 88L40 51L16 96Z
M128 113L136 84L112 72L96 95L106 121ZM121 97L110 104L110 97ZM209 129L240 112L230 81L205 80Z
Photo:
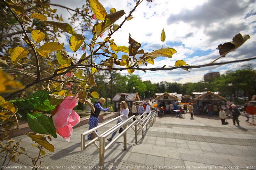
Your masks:
M107 11L104 6L100 4L98 0L90 0L90 5L95 17L103 21L107 15Z

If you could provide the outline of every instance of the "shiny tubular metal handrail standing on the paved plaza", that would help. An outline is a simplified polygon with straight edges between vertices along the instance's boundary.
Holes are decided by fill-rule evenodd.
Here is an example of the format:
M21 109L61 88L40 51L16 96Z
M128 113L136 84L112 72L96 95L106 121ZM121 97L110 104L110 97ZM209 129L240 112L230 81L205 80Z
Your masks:
M150 122L152 122L152 124L153 124L153 119L155 118L155 120L156 120L156 111L154 113L150 112L147 116L145 116L145 114L146 114L146 112L144 112L142 115L140 115L140 118L137 118L135 115L132 115L129 118L127 118L124 115L120 115L120 116L117 116L116 118L113 118L113 119L111 119L111 120L109 120L105 123L102 123L101 125L99 125L95 128L92 128L92 129L82 133L81 134L81 150L83 151L89 145L94 144L95 147L97 148L97 150L100 152L100 169L102 169L104 167L104 153L105 153L105 151L108 150L110 148L110 146L112 146L121 136L124 136L124 150L126 150L126 148L127 148L126 131L128 129L132 128L135 131L135 142L136 142L136 144L137 144L137 132L140 129L142 129L142 137L144 137L143 129L145 128L145 126L148 129L148 122L149 122L149 124L150 124ZM135 118L135 121L132 121L133 118ZM120 119L121 122L114 125L113 127L111 127L110 129L108 129L107 131L103 132L100 135L96 132L97 129L100 129L101 127L107 125L110 122L115 121L116 119ZM129 124L128 127L126 127L126 125L128 125L128 122L132 122L132 123ZM139 127L138 130L137 130L137 127ZM119 128L123 128L124 130L119 135L117 135L117 137L115 137L105 147L105 138L108 135L110 135L111 133L118 130ZM92 132L96 134L96 137L94 139L92 139L90 142L88 142L87 144L85 144L85 135L88 135ZM99 142L100 142L99 145L96 143L97 140L99 140Z

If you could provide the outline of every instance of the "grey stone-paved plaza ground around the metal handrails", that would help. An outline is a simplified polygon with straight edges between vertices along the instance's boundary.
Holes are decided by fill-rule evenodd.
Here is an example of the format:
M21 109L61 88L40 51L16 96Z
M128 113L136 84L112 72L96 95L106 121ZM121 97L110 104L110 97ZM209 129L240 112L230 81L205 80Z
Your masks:
M256 127L248 126L243 116L239 120L241 126L234 126L231 119L228 119L228 125L221 125L217 117L202 115L196 115L194 119L190 119L189 114L185 119L170 115L157 117L153 126L144 132L144 138L140 132L138 144L135 144L132 129L127 132L127 150L123 150L123 138L119 138L105 153L104 166L106 169L141 170L256 169ZM98 133L115 124L109 124ZM55 151L46 151L49 155L40 159L43 161L40 169L98 169L99 151L96 147L91 145L81 151L81 133L86 130L88 124L74 129L70 142L60 136L53 138L50 143L54 144ZM20 138L25 151L36 156L38 149L31 145L31 139L24 135L16 137ZM29 169L31 160L20 155L19 161L10 166Z

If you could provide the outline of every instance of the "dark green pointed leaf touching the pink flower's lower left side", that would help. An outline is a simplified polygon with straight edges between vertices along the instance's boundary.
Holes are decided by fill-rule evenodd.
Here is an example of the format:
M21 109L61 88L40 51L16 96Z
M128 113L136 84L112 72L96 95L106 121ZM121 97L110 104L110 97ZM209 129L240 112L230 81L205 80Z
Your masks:
M43 114L27 114L28 126L36 133L49 133L54 138L57 138L56 129L53 121L49 116Z

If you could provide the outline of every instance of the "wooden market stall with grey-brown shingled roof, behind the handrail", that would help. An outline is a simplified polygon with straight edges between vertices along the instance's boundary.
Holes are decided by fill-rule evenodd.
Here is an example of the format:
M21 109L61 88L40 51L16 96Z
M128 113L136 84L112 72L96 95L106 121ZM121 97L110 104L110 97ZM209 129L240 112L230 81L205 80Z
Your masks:
M133 102L137 102L137 100L140 100L138 93L116 93L116 95L112 99L112 101L115 103L114 111L119 111L121 101L125 101L129 109L131 110Z

